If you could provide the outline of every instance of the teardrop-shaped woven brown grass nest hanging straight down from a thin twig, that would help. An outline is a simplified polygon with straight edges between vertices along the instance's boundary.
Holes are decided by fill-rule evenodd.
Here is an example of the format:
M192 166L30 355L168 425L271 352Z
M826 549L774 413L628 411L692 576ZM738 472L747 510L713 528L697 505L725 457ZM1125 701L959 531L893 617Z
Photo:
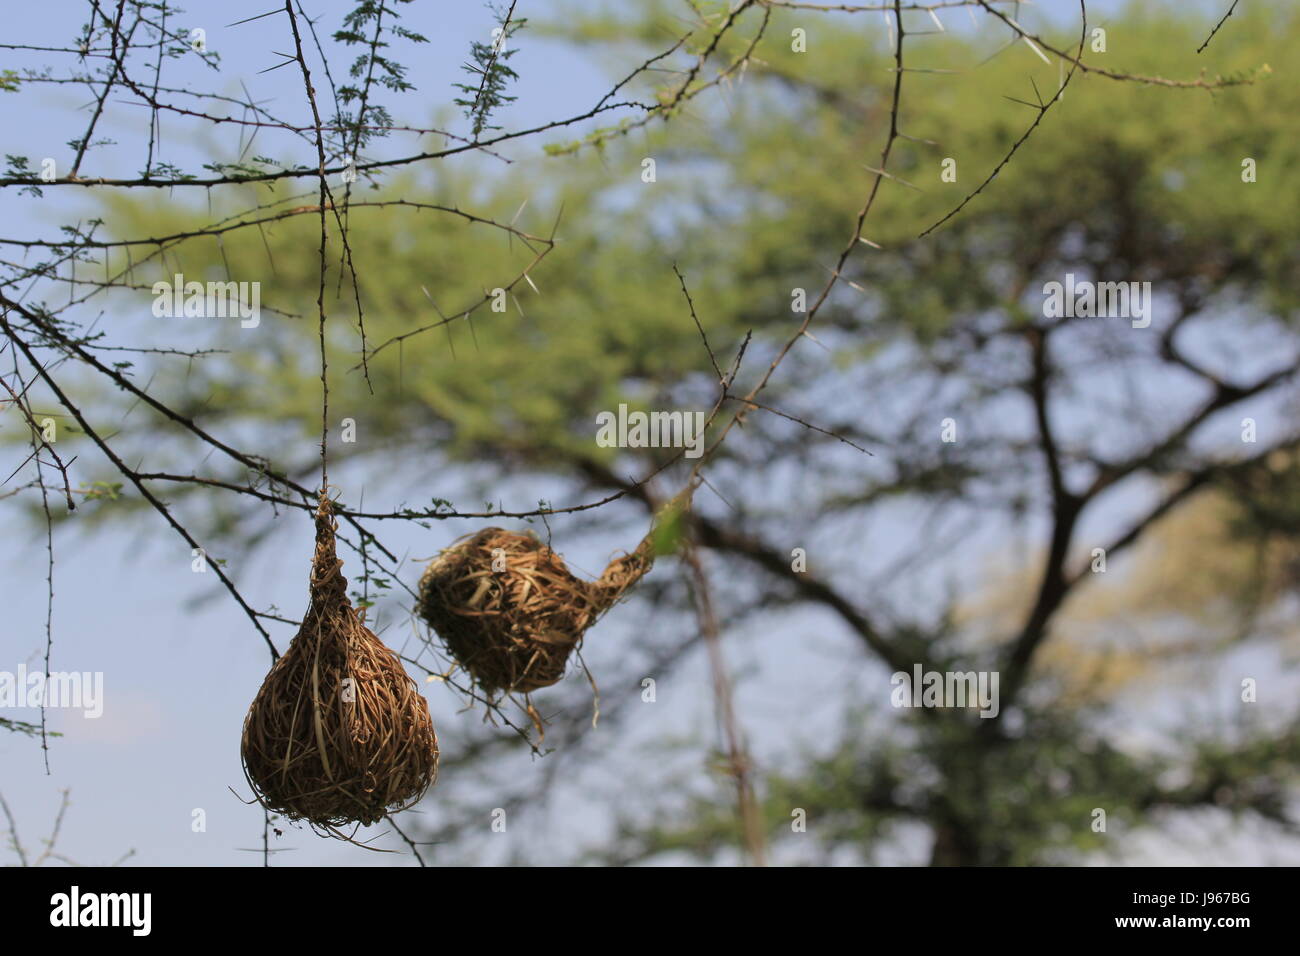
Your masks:
M429 705L352 609L342 566L322 494L311 605L248 708L242 748L266 809L325 829L410 806L438 771Z

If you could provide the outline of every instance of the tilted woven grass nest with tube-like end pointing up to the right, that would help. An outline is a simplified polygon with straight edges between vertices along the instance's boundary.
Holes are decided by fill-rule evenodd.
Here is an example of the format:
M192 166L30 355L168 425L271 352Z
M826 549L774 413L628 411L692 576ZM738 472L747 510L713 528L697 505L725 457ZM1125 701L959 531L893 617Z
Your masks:
M595 581L575 578L533 533L484 528L445 549L420 579L417 610L485 691L528 693L564 676L582 635L654 564L660 512L630 554Z

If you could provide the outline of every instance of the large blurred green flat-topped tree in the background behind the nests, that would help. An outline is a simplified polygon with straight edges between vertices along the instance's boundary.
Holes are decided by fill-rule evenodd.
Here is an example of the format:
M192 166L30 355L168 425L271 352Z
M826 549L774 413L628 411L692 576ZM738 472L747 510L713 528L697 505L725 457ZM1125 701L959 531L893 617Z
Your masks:
M594 441L597 414L620 403L707 410L716 395L672 267L724 368L753 334L738 377L751 385L798 326L800 290L811 302L829 277L890 124L893 51L879 13L760 7L770 22L744 74L645 126L559 134L546 151L516 148L508 166L478 156L356 189L347 225L359 281L335 238L325 282L330 315L351 316L329 339L333 367L351 369L332 382L330 427L351 418L358 433L334 447L346 501L356 505L344 476L361 475L373 511L387 510L381 499L511 510L628 493L611 509L550 518L563 551L637 535L677 489L682 466L640 484L667 450ZM681 17L699 25L682 52L707 49L720 10L530 12L515 39L640 62ZM753 13L711 62L744 55L758 31ZM1076 9L1052 13L1044 36L1072 52ZM1135 3L1097 18L1106 51L1086 44L1087 64L1191 87L1078 73L998 176L919 238L998 165L1069 66L982 20L979 31L919 36L930 18L906 16L916 72L904 77L905 138L864 226L870 243L762 399L826 431L753 411L705 466L708 486L689 518L728 643L786 627L800 611L833 620L861 646L842 732L806 740L790 727L779 744L798 756L780 760L755 744L772 858L897 858L889 853L918 834L924 849L906 858L1078 861L1158 829L1166 814L1205 808L1294 832L1300 737L1286 671L1300 597L1300 181L1291 174L1300 86L1268 65L1284 74L1300 16L1252 4L1202 55L1210 23L1180 4ZM806 52L792 49L796 29L806 30ZM1231 82L1197 86L1206 64ZM642 179L645 159L655 160L654 182ZM942 178L946 159L956 181ZM1243 181L1245 159L1256 181ZM244 202L211 209L207 199L120 193L103 200L103 219L117 237L165 237L251 203L316 202L311 187L240 189ZM382 204L396 200L442 209ZM471 208L533 238L458 212ZM291 216L169 247L133 272L136 291L113 299L124 316L144 315L150 285L173 273L260 277L268 313L257 329L198 332L177 320L181 341L226 351L131 373L302 477L316 467L320 427L317 230L313 215ZM1150 282L1149 328L1045 316L1044 284L1067 273ZM480 300L468 317L441 321ZM250 483L237 464L198 460L198 444L133 408L133 395L82 389L117 423L120 442L147 450L150 471ZM956 441L942 438L948 419ZM211 485L178 481L168 497L231 553L266 527L257 516L269 505ZM112 519L135 503L127 489L95 509ZM426 524L430 550L452 536ZM792 566L793 549L806 550L806 571ZM408 606L396 585L378 601L390 618ZM703 666L689 607L688 583L666 562L611 614L627 615L620 640L633 646L593 667L601 734L632 736L634 705L620 700L636 698L644 675L662 682ZM783 654L801 654L794 632ZM888 675L914 665L997 671L1000 714L893 709ZM1258 704L1238 698L1248 679ZM1231 706L1221 705L1225 682ZM503 784L514 803L502 805L528 805L564 761L599 760L586 682L541 696L556 715L547 743L558 749ZM1135 741L1124 734L1134 713L1176 732ZM443 780L520 748L499 727L469 728L445 754ZM741 829L716 774L644 784L620 806L612 839L573 858L732 858ZM428 801L425 835L474 858L464 844L472 810L442 800L443 786ZM811 840L792 832L796 809Z

